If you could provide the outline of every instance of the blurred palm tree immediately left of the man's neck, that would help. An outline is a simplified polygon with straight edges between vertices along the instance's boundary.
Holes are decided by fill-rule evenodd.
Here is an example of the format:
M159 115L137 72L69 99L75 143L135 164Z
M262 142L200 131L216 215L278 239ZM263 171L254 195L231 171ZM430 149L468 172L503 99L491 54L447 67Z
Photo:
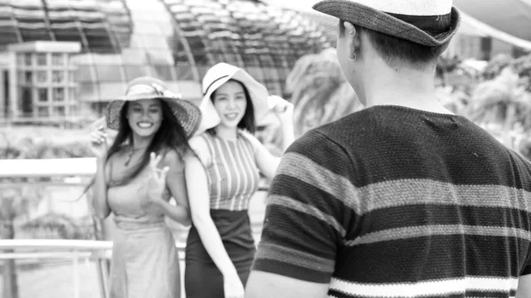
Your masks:
M335 49L300 57L286 80L296 136L363 108L344 78Z

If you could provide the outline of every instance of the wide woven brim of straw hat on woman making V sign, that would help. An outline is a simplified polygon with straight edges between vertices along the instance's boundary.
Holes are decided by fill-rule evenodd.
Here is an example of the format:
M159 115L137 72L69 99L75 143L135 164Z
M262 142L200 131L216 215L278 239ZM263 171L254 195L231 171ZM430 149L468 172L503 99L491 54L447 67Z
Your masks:
M194 134L198 133L202 114L194 103L190 103L189 101L183 99L160 96L142 96L139 98L136 98L136 96L124 96L112 101L105 109L105 121L107 123L107 127L114 130L119 130L119 116L125 103L134 102L141 99L163 100L170 106L170 109L172 109L173 115L175 118L177 118L179 124L181 124L182 128L184 129L184 133L187 135L187 138L190 138Z

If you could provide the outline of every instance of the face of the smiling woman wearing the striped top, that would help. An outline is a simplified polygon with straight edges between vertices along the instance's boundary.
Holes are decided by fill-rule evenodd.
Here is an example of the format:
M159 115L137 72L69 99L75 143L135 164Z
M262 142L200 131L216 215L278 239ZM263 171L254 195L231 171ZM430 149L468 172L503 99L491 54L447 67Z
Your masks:
M242 85L235 81L227 81L214 92L214 108L221 118L221 126L237 127L245 115L247 99Z

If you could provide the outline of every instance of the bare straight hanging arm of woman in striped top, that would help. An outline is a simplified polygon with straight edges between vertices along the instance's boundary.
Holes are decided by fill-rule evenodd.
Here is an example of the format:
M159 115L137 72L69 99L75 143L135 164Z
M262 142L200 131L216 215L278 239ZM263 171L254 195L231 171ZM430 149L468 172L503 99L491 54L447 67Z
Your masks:
M237 276L235 265L223 246L218 229L210 216L210 195L204 165L199 157L210 155L206 143L199 139L190 140L190 146L197 156L190 155L185 161L186 183L189 189L189 205L192 222L196 226L204 248L225 278ZM203 158L204 160L204 158Z

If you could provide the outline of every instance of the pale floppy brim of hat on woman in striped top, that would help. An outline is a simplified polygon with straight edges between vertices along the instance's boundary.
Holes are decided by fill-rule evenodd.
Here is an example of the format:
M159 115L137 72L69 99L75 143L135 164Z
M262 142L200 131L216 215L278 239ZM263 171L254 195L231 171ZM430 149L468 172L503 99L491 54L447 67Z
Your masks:
M215 90L227 83L228 80L238 80L242 82L245 88L247 88L249 91L257 125L266 116L267 111L269 111L267 103L269 92L267 91L267 88L260 84L257 80L254 80L249 73L243 71L242 69L238 69L235 73L230 73L226 77L214 81L212 86L207 89L199 106L201 112L203 113L203 122L199 130L204 131L219 125L221 119L219 118L218 112L214 108L211 96Z

